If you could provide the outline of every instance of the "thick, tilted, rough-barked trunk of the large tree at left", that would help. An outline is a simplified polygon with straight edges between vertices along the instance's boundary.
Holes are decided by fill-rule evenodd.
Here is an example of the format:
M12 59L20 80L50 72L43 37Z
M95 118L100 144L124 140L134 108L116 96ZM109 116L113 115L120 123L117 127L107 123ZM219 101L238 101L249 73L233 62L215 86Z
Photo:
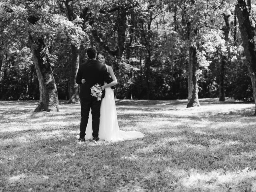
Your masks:
M29 36L29 41L40 90L40 103L34 112L58 112L58 92L52 72L52 67L50 65L50 60L47 58L47 56L44 57L41 53L41 51L46 47L44 40L39 38L36 42L38 46L34 46L35 43L33 43L32 36Z

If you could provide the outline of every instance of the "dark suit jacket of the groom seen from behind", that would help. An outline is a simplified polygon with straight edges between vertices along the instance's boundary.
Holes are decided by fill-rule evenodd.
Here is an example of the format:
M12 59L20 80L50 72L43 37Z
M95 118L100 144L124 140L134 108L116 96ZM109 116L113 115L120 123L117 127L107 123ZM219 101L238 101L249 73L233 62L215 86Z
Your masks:
M82 79L86 81L84 84L82 84ZM113 81L104 64L101 64L95 59L90 59L86 63L81 64L76 74L76 83L81 85L80 98L92 99L90 88L95 84L102 86L104 85L104 81L107 83ZM102 98L104 96L105 90L102 91Z

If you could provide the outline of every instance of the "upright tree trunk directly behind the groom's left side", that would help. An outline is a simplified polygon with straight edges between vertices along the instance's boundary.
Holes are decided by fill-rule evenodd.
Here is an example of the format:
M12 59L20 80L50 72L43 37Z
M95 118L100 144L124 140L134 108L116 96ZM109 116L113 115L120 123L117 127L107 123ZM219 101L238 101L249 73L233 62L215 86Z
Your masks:
M79 103L78 84L76 84L76 73L79 67L79 48L71 45L72 59L70 66L70 92L68 103Z

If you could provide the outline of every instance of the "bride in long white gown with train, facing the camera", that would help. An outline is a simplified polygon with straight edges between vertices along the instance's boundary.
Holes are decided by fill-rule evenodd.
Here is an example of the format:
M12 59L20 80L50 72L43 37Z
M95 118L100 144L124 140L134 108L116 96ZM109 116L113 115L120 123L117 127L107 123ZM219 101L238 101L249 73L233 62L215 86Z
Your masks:
M105 64L106 59L104 53L99 52L97 54L97 60ZM106 65L106 64L105 64ZM116 142L123 140L132 140L137 138L143 138L144 134L138 131L122 131L119 129L118 120L116 115L116 103L114 98L114 92L111 86L117 84L116 76L114 75L113 68L106 65L108 73L112 78L112 82L105 84L101 87L102 90L105 89L105 97L101 101L100 106L100 128L99 128L99 138L100 140L108 142ZM83 83L84 81L82 81ZM92 114L89 114L89 120L86 127L85 139L92 139Z

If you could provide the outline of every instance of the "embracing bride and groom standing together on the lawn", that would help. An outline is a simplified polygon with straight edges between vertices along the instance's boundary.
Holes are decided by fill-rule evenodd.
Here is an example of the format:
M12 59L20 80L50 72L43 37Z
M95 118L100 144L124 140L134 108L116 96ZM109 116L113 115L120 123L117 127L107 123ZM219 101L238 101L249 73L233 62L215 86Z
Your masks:
M97 54L96 49L90 47L86 53L88 61L80 65L76 75L76 83L81 85L79 140L115 142L144 137L144 134L138 131L119 129L113 92L117 84L114 71L111 66L106 65L106 58L102 52ZM92 96L91 88L96 84L101 86L101 98Z

